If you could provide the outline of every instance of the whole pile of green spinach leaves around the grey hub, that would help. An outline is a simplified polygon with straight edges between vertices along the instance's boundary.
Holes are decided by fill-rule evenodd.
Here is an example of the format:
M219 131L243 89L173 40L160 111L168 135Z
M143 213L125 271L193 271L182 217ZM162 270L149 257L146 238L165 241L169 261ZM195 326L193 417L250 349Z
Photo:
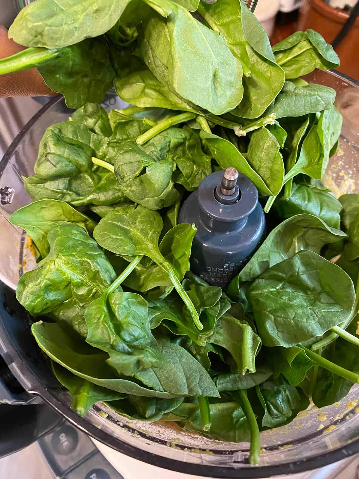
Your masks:
M11 216L39 260L16 295L73 408L250 441L258 463L260 431L359 382L359 195L321 183L342 119L300 78L336 53L312 30L271 48L239 0L36 0L9 36L29 48L0 74L35 66L78 108L47 128ZM97 104L112 84L133 106ZM222 291L189 270L196 227L177 218L227 167L272 210Z

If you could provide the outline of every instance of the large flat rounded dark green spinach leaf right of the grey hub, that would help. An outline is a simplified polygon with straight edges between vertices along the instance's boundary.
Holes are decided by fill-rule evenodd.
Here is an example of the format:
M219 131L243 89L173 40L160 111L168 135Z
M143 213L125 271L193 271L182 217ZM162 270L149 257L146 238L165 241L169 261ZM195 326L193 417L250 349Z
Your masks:
M341 268L304 250L261 274L247 297L263 344L290 347L348 319L355 291Z

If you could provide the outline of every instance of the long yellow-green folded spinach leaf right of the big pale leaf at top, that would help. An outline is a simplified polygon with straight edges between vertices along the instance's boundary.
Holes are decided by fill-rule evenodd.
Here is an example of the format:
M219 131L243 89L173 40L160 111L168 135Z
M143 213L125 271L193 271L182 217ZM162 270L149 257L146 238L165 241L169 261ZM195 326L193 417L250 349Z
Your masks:
M233 55L243 66L243 100L231 113L257 118L284 84L284 71L275 61L265 30L253 13L237 0L212 4L202 2L198 12L213 30L224 36Z

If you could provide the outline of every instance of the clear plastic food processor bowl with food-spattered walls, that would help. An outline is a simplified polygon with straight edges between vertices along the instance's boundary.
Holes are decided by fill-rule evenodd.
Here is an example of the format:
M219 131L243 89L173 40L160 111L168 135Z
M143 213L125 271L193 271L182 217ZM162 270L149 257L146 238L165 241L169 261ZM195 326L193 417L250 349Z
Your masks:
M343 115L339 147L329 162L324 182L335 196L359 193L358 83L335 71L315 71L306 79L334 88L337 91L335 104ZM124 105L110 93L103 106L109 110ZM70 114L62 98L52 99L24 126L0 162L0 187L14 190L11 204L0 205L0 280L12 289L20 275L35 265L26 233L8 221L15 210L31 201L23 188L22 175L34 173L34 162L46 127L66 120ZM14 315L11 320L22 321L22 318ZM320 411L312 406L289 425L262 432L258 466L248 464L247 443L206 439L181 430L175 423L131 422L101 403L97 403L86 418L81 418L71 410L69 394L50 380L44 359L26 328L22 334L28 337L22 341L24 346L19 348L15 358L15 363L21 363L17 367L22 368L23 382L28 381L28 388L70 422L128 456L188 474L259 478L318 468L359 452L358 387L353 387L340 403Z

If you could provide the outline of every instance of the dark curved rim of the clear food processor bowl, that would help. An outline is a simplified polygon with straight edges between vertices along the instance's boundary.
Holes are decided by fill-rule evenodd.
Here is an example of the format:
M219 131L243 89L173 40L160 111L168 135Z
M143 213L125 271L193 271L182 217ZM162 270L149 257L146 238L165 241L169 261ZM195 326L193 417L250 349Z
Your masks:
M359 81L354 80L347 75L338 72L337 70L329 70L329 73L337 76L341 80L347 81L352 85L359 86ZM62 101L63 96L58 95L52 98L46 103L29 122L24 125L22 130L14 138L11 145L5 152L2 160L0 161L0 177L11 160L13 153L17 145L21 142L22 138L28 133L30 128L36 123L36 121L56 103ZM5 287L8 287L5 285ZM9 288L10 289L10 288ZM88 434L90 437L100 441L104 445L112 447L113 449L125 454L126 456L139 459L142 462L146 462L153 466L173 470L176 472L191 474L195 476L203 476L210 478L226 478L226 479L259 479L269 476L295 474L305 472L311 469L321 468L332 464L334 462L345 459L348 456L359 452L359 439L354 440L348 445L340 446L335 450L325 452L319 456L311 458L299 459L295 462L282 463L270 466L250 466L247 467L220 467L210 466L205 464L192 464L178 459L171 459L166 456L160 456L155 453L143 450L137 446L130 445L121 439L115 438L112 434L107 433L94 424L91 424L86 418L80 417L75 411L73 411L67 404L56 398L51 391L46 388L35 376L31 367L25 365L16 349L11 343L9 334L4 327L2 319L0 317L0 352L4 354L4 359L8 362L11 371L17 376L17 379L26 384L26 389L30 394L34 394L43 399L49 404L56 412L67 419L68 422L79 428L80 431ZM14 364L16 367L12 367ZM23 380L21 377L23 377Z

